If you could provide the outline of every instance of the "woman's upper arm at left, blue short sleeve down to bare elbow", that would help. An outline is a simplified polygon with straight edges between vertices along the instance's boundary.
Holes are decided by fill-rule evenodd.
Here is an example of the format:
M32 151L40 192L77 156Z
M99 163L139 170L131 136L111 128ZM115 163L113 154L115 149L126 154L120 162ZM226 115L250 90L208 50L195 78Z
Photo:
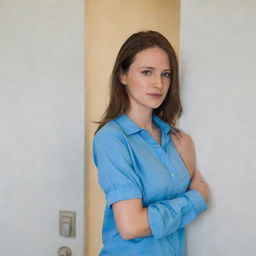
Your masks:
M93 157L99 184L105 193L107 207L113 207L119 233L124 239L131 239L134 229L141 228L136 223L143 212L142 191L122 134L104 132L96 135Z

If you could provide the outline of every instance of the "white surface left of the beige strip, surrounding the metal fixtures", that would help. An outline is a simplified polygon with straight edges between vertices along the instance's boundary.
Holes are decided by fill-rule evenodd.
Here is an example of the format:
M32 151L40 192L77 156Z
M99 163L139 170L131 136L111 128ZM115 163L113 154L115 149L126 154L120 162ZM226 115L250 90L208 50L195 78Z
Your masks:
M0 255L83 255L83 8L0 0ZM76 238L59 210L77 212Z

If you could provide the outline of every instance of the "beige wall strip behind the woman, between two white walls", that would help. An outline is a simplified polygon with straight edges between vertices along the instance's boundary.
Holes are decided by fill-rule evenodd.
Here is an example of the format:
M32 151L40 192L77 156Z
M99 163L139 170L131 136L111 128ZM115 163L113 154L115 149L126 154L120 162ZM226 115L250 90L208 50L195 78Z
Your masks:
M140 30L156 30L179 51L180 1L87 0L86 4L86 255L98 255L102 247L104 194L98 185L92 160L92 139L108 100L110 73L123 42Z

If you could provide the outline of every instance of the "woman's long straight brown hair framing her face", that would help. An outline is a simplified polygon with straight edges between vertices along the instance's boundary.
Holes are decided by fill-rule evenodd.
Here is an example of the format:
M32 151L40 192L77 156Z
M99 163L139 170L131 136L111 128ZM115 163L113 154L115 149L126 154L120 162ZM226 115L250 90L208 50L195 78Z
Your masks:
M169 57L171 81L167 95L162 104L153 109L153 114L160 117L170 125L175 125L176 118L182 113L179 93L179 71L177 57L170 42L159 32L140 31L132 34L120 48L110 80L110 100L106 111L98 123L97 131L108 121L125 113L129 108L129 98L125 86L120 81L121 72L127 72L135 59L135 55L151 47L162 48Z

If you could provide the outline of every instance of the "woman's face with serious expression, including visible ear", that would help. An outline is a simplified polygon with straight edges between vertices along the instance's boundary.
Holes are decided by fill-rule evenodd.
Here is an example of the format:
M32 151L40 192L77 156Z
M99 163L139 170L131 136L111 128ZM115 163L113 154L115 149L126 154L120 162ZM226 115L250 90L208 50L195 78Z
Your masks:
M158 108L164 101L171 80L169 58L160 47L135 55L127 73L121 75L131 107Z

